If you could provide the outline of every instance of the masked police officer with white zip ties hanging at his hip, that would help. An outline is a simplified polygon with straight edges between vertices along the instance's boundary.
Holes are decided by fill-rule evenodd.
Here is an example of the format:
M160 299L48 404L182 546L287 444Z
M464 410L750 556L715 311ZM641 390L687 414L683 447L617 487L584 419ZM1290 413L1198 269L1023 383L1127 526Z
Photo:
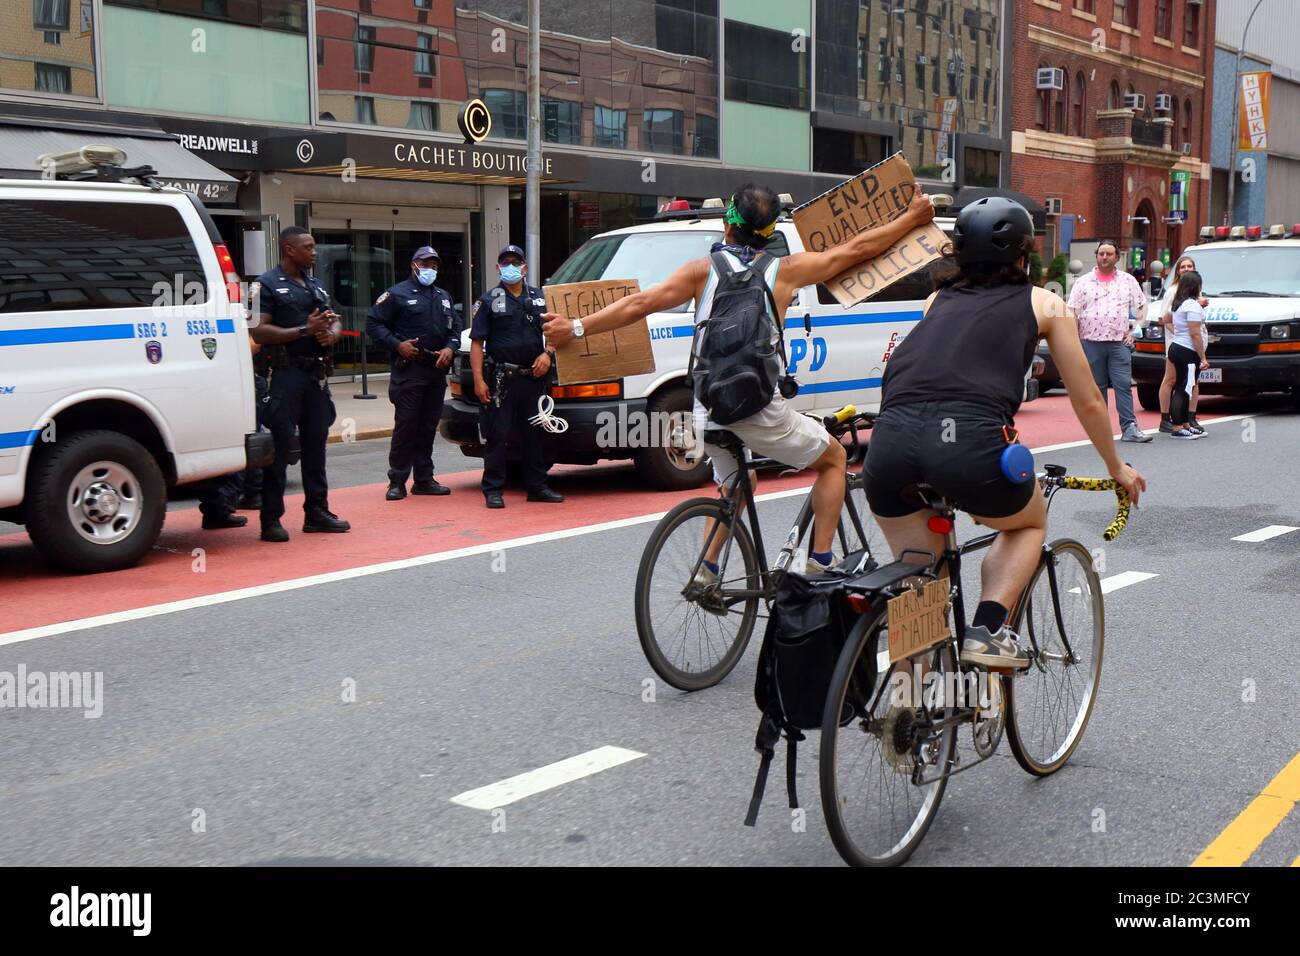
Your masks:
M524 285L524 250L506 246L497 256L500 284L474 303L469 326L469 365L474 373L474 394L482 405L478 412L484 436L484 497L488 507L506 507L506 436L519 436L524 459L524 484L529 501L559 503L546 485L542 432L529 419L537 415L537 402L546 394L551 355L542 339L546 299L541 289ZM484 356L486 342L486 358Z

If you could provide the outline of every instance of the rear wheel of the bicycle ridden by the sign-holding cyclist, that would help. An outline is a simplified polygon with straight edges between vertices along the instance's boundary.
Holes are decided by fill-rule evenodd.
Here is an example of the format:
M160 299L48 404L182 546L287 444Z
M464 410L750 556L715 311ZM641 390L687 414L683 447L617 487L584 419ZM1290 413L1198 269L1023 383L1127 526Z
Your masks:
M719 499L692 498L677 505L655 525L637 568L636 620L641 649L654 672L679 691L702 691L731 674L745 653L758 617L757 596L744 598L738 609L725 605L719 613L706 609L707 597L690 600L682 594L701 557L708 520L725 520ZM719 601L727 584L760 587L758 553L744 522L736 522L718 563L724 561L723 588L715 592ZM741 568L736 567L737 561ZM668 614L660 614L663 606L670 609ZM676 627L672 619L679 607L682 623ZM729 635L727 624L733 626ZM716 632L716 640L711 632ZM693 657L698 659L693 662Z

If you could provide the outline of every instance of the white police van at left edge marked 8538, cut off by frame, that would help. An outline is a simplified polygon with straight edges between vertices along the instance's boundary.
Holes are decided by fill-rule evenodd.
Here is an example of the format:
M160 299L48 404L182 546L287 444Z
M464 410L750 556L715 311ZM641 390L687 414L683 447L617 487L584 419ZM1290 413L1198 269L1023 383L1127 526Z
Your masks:
M73 179L0 179L0 520L109 571L153 546L169 486L265 464L270 436L203 206L112 147L42 160Z

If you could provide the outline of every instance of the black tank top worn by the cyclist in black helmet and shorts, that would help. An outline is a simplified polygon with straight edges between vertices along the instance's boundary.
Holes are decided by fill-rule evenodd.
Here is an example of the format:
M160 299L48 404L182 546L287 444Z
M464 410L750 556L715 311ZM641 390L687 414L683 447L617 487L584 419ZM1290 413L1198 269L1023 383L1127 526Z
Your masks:
M1013 418L1039 339L1031 285L944 289L885 367L880 410L956 399Z

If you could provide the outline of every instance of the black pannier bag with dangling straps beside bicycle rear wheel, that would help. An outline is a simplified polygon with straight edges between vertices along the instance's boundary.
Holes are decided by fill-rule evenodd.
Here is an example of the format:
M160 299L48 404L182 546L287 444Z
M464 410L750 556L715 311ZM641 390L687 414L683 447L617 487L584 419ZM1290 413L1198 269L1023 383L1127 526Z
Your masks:
M783 734L786 740L785 788L790 808L800 805L794 787L798 741L805 739L803 731L822 728L835 665L849 632L861 619L848 606L842 587L848 576L835 571L811 576L788 574L776 592L754 679L754 702L763 714L754 749L762 760L745 826L754 826L758 821L767 771ZM875 663L874 654L862 656L853 692L841 714L844 721L858 714L858 705L866 702L875 687Z

